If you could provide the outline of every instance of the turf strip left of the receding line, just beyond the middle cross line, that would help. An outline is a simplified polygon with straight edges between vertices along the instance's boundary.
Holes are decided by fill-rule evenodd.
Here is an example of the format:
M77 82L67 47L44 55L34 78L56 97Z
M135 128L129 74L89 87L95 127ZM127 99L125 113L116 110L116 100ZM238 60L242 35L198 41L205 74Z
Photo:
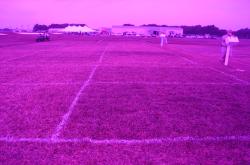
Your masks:
M0 67L0 83L82 83L90 66L81 65L3 65Z

